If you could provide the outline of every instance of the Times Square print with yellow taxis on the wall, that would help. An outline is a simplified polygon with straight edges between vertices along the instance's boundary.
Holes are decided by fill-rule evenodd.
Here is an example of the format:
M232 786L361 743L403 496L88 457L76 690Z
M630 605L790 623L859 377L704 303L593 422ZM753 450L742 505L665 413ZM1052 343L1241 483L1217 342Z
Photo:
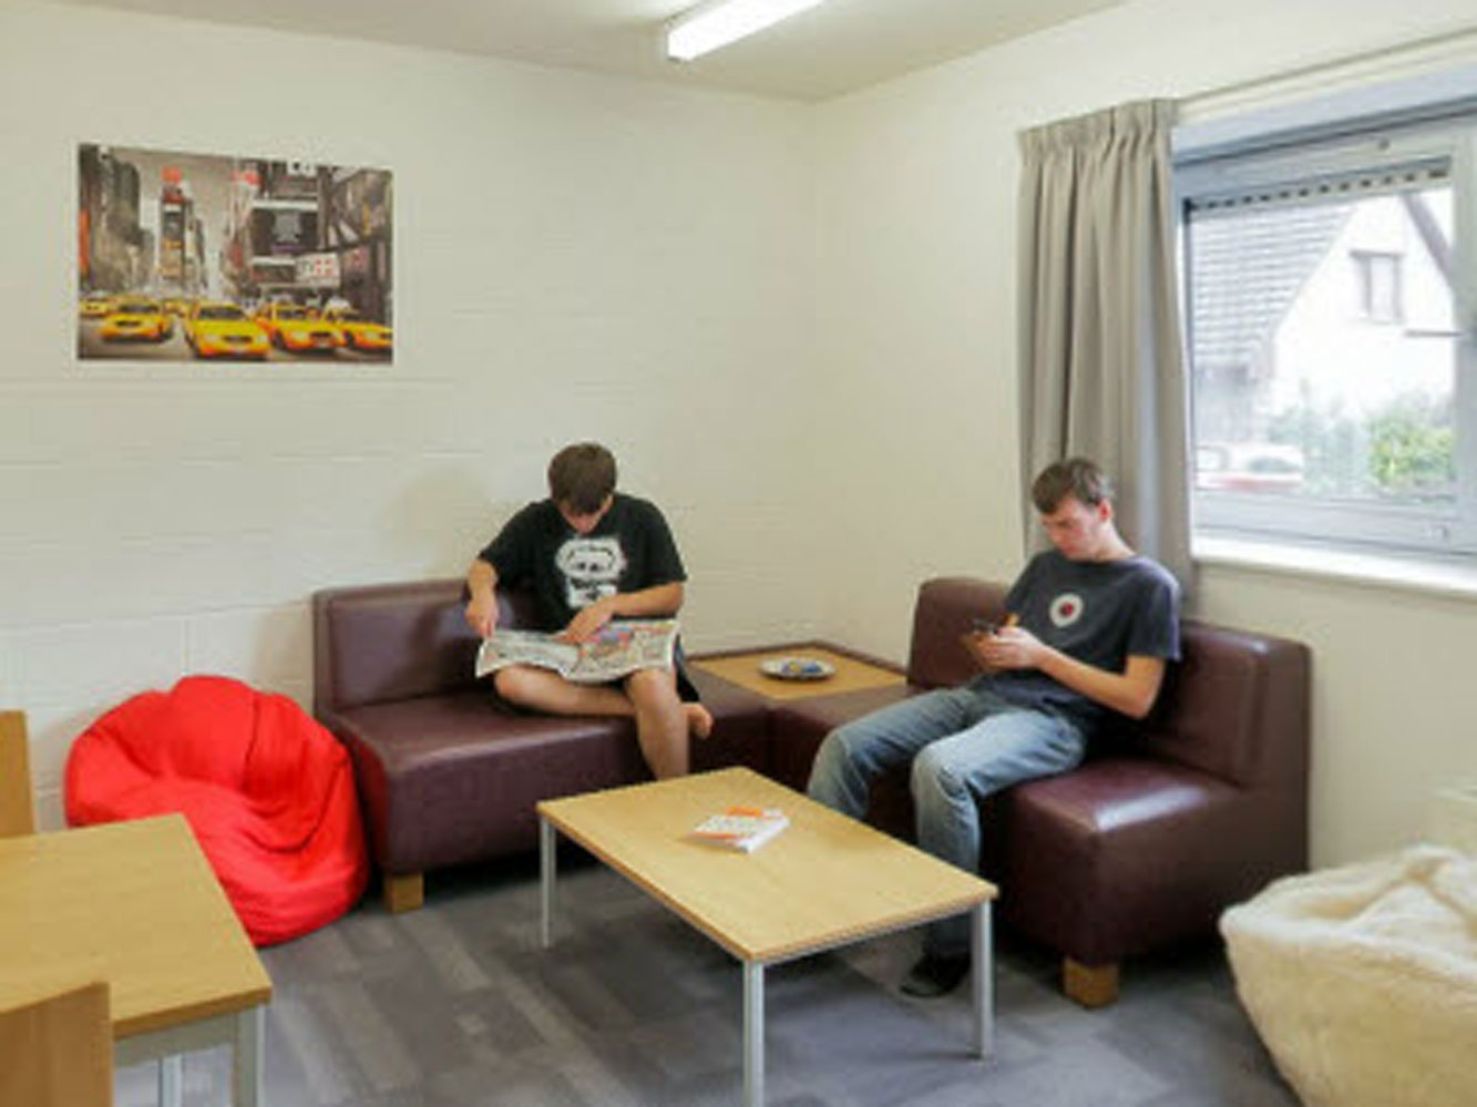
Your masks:
M77 164L80 361L393 361L388 170L102 143Z

